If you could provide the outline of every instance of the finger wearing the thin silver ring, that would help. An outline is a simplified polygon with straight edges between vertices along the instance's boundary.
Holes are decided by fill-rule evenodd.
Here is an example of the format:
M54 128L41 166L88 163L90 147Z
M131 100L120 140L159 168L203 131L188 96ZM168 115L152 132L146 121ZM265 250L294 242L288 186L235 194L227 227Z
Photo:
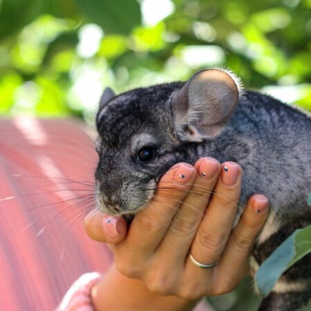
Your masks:
M234 162L221 164L214 194L191 246L191 254L197 261L209 264L219 260L232 230L241 194L241 180L242 169L238 164ZM188 263L194 267L190 259Z

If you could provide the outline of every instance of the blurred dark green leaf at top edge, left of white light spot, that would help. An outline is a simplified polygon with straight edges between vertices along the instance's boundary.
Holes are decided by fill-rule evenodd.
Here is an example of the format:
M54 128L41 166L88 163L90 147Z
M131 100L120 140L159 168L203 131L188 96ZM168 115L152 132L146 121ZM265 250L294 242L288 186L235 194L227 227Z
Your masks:
M81 11L106 33L129 34L140 24L140 5L135 0L75 0Z

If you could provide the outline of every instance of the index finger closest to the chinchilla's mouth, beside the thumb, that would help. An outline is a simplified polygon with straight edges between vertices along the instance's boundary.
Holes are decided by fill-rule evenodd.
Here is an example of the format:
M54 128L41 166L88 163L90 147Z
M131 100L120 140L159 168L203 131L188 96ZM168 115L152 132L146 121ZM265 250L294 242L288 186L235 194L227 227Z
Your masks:
M195 178L196 170L190 164L176 164L167 171L158 183L153 200L135 216L124 243L117 245L118 249L125 248L127 256L137 262L151 256Z

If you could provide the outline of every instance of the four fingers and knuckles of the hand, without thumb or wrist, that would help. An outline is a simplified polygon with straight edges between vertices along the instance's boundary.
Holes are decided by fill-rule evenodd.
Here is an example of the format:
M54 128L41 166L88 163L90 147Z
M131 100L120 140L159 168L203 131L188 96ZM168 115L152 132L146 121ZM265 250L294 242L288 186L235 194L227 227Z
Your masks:
M121 274L141 279L153 292L191 299L229 292L241 281L266 218L267 198L252 197L232 230L243 172L234 162L214 160L213 173L210 162L201 159L196 169L176 164L162 177L149 206L135 216L124 241L115 244ZM218 265L196 267L187 258L189 249L197 261Z

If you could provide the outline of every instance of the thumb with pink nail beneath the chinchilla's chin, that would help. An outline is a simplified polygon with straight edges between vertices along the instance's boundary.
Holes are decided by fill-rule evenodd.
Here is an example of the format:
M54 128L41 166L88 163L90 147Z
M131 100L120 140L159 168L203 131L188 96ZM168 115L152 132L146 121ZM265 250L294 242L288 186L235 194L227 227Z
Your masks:
M116 244L124 240L127 225L122 216L99 214L95 209L84 218L84 229L95 241Z

